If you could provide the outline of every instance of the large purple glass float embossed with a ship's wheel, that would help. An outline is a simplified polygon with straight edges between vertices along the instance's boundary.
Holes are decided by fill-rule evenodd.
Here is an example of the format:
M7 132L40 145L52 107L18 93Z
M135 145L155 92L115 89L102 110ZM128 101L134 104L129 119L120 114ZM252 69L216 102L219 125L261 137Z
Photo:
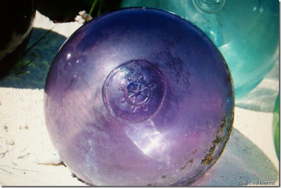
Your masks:
M121 9L80 27L46 81L64 164L91 185L190 185L224 151L234 88L220 51L181 17Z

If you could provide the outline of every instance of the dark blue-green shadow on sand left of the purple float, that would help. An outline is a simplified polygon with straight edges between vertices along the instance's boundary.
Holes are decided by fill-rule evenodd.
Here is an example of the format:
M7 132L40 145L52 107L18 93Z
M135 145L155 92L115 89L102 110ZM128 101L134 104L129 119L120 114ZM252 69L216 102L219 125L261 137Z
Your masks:
M46 34L47 32L48 34ZM44 36L43 39L26 52L9 74L0 80L0 87L44 88L50 65L66 37L46 29L33 28L26 49L38 42L42 36Z

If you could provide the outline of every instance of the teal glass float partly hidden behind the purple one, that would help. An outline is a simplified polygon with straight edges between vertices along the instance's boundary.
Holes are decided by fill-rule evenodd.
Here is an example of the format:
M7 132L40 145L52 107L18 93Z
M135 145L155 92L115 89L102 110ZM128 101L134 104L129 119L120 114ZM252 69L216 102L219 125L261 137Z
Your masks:
M122 0L177 14L201 28L222 52L235 98L253 90L279 58L279 2L267 0Z

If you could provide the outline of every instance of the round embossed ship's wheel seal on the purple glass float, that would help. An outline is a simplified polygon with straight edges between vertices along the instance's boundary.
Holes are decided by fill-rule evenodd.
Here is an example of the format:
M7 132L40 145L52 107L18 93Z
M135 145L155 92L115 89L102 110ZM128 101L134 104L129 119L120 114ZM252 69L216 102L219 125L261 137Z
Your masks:
M163 73L146 60L132 60L114 68L102 86L107 109L119 120L141 122L161 107L166 92Z

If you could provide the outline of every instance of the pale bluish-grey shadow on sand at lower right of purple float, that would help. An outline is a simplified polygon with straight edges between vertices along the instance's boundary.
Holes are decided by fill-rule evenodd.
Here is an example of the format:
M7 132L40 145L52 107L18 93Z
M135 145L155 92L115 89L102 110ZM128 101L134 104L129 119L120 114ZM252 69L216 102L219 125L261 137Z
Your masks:
M246 181L248 185L249 181L276 182L278 176L277 169L261 149L233 128L220 159L193 186L242 185L238 180Z

